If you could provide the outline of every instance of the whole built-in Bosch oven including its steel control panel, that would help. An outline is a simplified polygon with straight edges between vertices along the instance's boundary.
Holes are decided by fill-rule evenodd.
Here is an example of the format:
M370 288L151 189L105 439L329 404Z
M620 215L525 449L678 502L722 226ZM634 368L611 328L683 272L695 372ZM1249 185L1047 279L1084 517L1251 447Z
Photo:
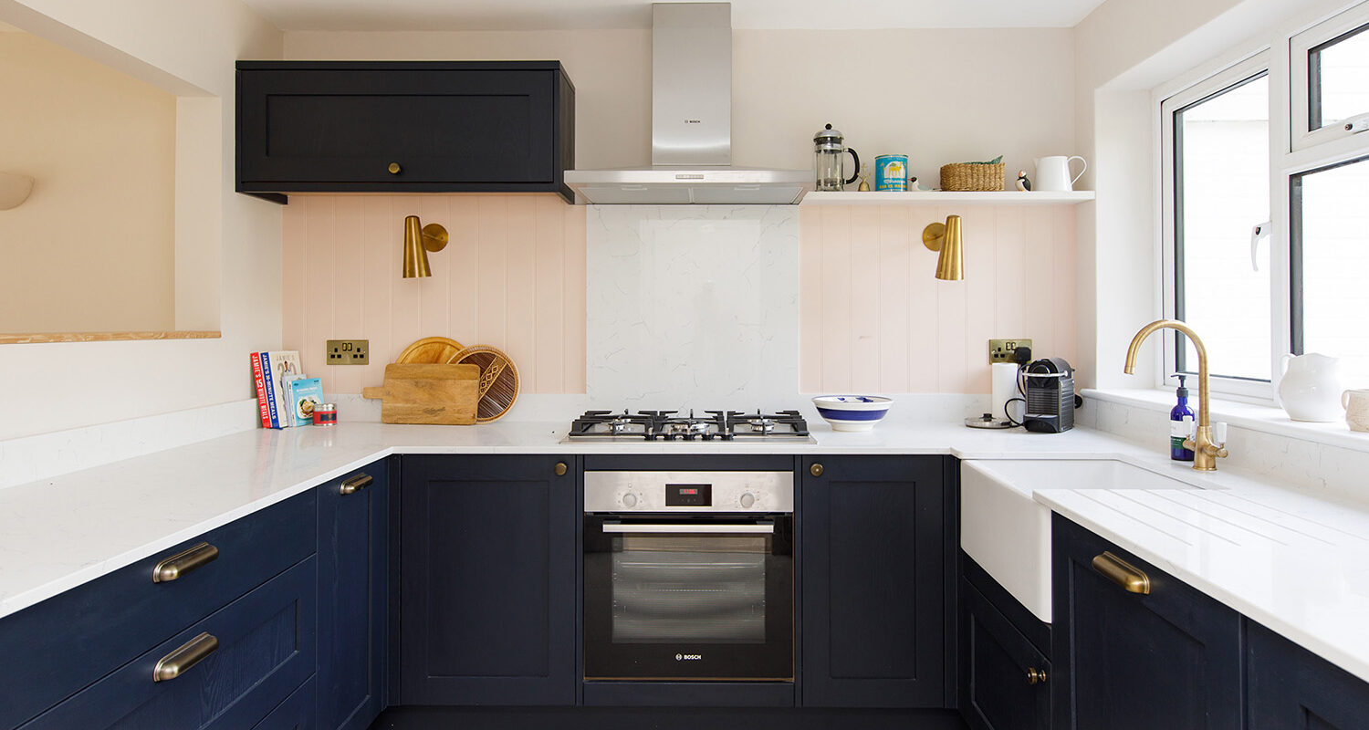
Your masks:
M794 678L791 471L585 473L585 678Z

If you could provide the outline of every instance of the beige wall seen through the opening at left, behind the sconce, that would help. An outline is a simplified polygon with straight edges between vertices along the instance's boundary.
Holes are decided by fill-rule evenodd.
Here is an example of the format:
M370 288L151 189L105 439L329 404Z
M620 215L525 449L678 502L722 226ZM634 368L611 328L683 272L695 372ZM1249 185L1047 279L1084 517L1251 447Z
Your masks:
M174 329L175 97L37 36L0 33L0 333Z

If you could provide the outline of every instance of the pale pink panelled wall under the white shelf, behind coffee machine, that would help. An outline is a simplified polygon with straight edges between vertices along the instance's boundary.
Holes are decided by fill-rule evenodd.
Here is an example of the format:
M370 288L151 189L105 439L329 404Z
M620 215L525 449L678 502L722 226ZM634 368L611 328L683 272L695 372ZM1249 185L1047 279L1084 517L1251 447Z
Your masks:
M927 223L960 215L965 279L934 278ZM799 208L799 389L987 393L988 338L1075 362L1072 205Z

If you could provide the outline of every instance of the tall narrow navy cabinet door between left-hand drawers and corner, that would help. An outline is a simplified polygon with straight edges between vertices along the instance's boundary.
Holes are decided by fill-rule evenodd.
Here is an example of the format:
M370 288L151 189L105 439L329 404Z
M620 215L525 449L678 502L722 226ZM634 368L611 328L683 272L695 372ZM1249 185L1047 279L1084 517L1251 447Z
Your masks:
M389 490L381 460L318 489L316 726L364 730L385 704Z

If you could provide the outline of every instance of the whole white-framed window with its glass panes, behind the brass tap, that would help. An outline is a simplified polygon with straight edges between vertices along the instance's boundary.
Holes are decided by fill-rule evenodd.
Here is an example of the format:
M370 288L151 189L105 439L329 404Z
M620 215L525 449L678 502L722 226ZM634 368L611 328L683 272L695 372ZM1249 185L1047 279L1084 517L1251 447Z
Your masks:
M1369 375L1362 127L1369 3L1283 29L1164 95L1165 315L1202 334L1214 393L1270 399L1287 353L1343 357L1350 378ZM1161 385L1198 368L1177 333L1164 357Z

